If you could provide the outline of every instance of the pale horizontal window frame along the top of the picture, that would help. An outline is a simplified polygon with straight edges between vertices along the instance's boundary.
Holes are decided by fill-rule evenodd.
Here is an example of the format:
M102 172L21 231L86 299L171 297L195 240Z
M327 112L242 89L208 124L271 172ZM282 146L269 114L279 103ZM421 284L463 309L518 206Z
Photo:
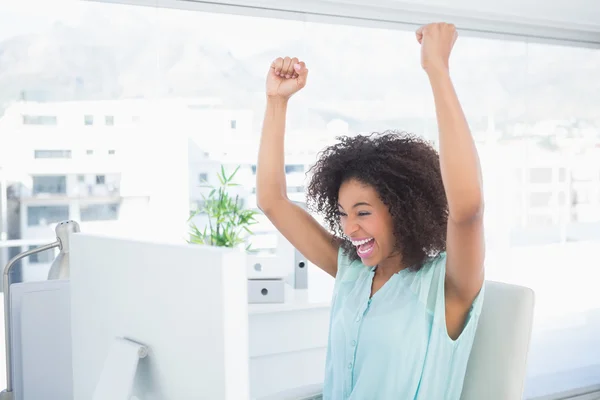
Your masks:
M463 36L600 48L600 25L548 18L522 17L511 13L478 12L407 1L370 0L85 0L152 8L176 8L289 19L304 22L344 24L372 28L414 30L431 21L452 21Z

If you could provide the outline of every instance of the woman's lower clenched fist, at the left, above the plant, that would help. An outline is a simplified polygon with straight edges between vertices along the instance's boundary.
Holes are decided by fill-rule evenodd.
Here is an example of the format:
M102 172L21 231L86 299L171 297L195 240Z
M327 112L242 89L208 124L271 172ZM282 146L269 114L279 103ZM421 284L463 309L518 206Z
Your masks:
M308 69L296 57L277 58L267 75L267 96L289 99L306 85Z

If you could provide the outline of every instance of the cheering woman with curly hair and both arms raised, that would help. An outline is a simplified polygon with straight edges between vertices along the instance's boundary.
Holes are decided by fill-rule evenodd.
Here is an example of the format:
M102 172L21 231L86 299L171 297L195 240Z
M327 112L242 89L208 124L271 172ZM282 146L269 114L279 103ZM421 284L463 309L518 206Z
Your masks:
M416 35L439 156L395 132L327 148L312 168L308 198L333 234L286 196L286 109L306 84L306 65L278 58L267 77L258 205L336 280L324 399L460 398L483 300L482 180L449 75L455 27L429 24Z

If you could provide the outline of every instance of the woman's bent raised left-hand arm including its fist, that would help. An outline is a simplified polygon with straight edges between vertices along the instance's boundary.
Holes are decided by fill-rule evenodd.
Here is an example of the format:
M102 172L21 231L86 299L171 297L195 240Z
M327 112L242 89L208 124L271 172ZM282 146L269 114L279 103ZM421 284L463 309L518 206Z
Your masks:
M273 61L267 76L267 108L258 152L258 207L308 260L331 276L337 273L338 244L308 212L287 198L284 135L290 97L306 84L308 69L297 58Z

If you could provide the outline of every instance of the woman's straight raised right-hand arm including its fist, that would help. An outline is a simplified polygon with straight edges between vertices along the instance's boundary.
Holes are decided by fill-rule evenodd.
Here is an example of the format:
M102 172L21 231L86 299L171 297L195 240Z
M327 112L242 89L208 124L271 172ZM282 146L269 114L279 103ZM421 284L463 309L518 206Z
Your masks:
M485 245L479 157L449 73L456 38L452 24L429 24L417 30L421 64L435 100L440 167L449 208L446 300L448 305L456 304L458 312L470 307L481 289ZM460 327L460 321L456 324Z

